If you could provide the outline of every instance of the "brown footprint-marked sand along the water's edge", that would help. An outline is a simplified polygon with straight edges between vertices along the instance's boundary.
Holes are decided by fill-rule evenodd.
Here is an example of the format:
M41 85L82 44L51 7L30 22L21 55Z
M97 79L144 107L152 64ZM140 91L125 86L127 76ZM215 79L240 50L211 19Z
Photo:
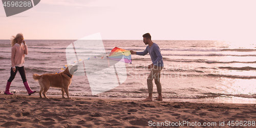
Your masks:
M140 101L100 97L64 99L61 96L47 96L50 99L39 98L38 94L1 93L0 126L199 127L200 124L200 127L252 127L256 120L256 103L174 102L166 99Z

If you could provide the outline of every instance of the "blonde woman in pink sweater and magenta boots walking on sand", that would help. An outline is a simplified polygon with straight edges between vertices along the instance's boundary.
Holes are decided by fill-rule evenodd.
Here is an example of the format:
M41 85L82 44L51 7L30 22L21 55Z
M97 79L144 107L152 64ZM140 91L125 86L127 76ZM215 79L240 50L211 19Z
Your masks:
M14 79L17 71L19 72L20 76L22 76L22 80L24 83L25 88L28 91L28 94L31 95L33 93L35 93L36 91L31 91L29 84L27 82L27 78L26 78L26 73L25 73L25 68L24 68L24 57L25 54L28 54L28 47L26 45L26 42L24 41L24 37L22 33L18 33L15 37L12 36L12 41L11 41L11 45L12 45L12 54L11 54L11 63L12 63L12 68L11 68L11 76L7 81L6 84L6 89L5 89L5 94L6 95L12 95L12 93L10 93L10 86L11 86L11 82ZM22 45L22 43L24 45Z

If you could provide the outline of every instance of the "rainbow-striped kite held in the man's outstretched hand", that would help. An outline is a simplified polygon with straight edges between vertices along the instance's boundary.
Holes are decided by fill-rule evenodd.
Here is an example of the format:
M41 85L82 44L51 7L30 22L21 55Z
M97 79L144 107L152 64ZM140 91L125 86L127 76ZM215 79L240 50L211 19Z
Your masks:
M128 50L117 48L117 47L112 49L110 55L106 56L106 57L113 59L113 60L117 60L117 61L132 63L131 52Z

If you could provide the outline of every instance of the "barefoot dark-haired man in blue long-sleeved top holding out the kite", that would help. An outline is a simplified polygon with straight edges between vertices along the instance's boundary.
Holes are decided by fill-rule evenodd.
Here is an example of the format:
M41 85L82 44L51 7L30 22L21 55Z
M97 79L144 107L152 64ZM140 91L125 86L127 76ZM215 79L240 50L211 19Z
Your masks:
M152 101L152 93L153 93L153 79L155 79L155 83L157 85L157 93L158 97L154 100L162 101L162 86L160 83L160 72L163 69L163 57L160 52L159 46L152 42L150 33L146 33L143 36L143 42L145 45L148 45L143 52L135 52L131 50L131 54L136 55L146 55L147 53L150 54L152 64L148 65L148 69L152 69L150 75L147 77L147 91L148 97L143 99L145 101Z

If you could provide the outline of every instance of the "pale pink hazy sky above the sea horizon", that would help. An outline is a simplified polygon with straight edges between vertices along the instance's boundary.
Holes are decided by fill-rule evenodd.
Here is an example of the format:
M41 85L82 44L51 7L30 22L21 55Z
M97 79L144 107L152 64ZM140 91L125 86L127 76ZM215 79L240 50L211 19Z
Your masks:
M256 1L41 0L6 17L0 5L0 39L247 40L256 42Z

